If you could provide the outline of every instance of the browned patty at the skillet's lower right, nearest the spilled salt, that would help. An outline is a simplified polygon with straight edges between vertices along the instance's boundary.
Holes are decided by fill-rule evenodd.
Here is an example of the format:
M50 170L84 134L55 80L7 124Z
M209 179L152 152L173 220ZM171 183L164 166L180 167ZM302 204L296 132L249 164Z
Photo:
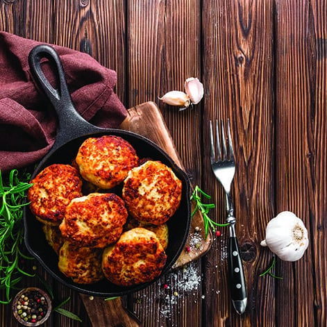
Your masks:
M103 251L102 268L112 283L131 286L158 277L166 260L165 250L155 233L145 228L133 228Z

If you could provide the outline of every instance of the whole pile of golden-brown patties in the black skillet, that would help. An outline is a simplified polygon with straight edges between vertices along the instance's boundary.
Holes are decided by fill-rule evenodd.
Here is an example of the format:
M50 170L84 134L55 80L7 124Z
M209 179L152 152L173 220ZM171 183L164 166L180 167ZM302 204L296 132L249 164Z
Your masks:
M60 271L74 283L106 277L121 286L159 276L181 181L162 162L140 165L133 146L114 135L87 138L72 162L45 168L28 190ZM117 185L121 196L112 190Z

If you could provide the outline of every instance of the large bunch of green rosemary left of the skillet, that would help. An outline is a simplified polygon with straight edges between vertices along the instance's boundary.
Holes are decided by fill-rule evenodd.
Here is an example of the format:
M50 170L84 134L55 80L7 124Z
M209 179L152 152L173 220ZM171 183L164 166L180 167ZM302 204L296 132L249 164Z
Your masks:
M6 290L6 300L10 303L10 290L25 276L33 276L19 267L22 260L33 259L22 252L24 243L23 207L26 206L26 190L30 175L25 173L22 181L18 171L12 169L7 183L0 170L0 289Z

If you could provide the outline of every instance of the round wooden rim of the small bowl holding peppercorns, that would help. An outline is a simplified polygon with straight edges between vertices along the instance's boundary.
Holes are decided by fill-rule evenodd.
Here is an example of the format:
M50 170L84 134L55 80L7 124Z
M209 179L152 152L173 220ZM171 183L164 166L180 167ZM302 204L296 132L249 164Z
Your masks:
M22 317L20 317L20 315L17 312L18 311L17 310L17 302L19 301L19 299L21 299L22 294L29 294L30 292L40 293L41 296L44 296L44 299L45 299L45 301L47 302L47 305L48 305L46 315L44 315L44 317L42 317L42 319L37 320L35 322L25 321L24 319L22 319ZM12 314L17 319L19 324L22 324L24 326L35 327L35 326L40 326L40 325L44 324L44 322L47 321L47 319L49 318L49 316L51 314L51 310L52 310L52 304L51 304L51 299L50 299L49 294L47 294L43 290L40 290L40 288L37 288L37 287L26 287L26 288L24 288L22 291L17 293L17 295L15 296L15 299L12 301Z

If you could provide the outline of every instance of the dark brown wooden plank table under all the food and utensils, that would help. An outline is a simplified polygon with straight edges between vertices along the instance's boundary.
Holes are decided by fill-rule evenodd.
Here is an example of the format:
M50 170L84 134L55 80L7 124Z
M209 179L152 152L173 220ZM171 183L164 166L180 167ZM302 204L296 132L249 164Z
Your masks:
M89 52L117 71L126 108L158 103L192 183L212 195L217 221L226 214L210 169L208 121L230 119L246 312L237 315L230 302L221 228L204 257L124 297L143 326L326 326L326 22L322 0L0 0L1 30ZM178 112L158 100L190 76L204 85L199 105ZM310 246L298 262L277 260L283 280L260 277L272 258L260 241L282 210L303 219ZM91 326L79 294L54 281L53 290L71 296L65 308L83 323L55 313L44 326ZM0 312L1 326L18 326L10 306Z

